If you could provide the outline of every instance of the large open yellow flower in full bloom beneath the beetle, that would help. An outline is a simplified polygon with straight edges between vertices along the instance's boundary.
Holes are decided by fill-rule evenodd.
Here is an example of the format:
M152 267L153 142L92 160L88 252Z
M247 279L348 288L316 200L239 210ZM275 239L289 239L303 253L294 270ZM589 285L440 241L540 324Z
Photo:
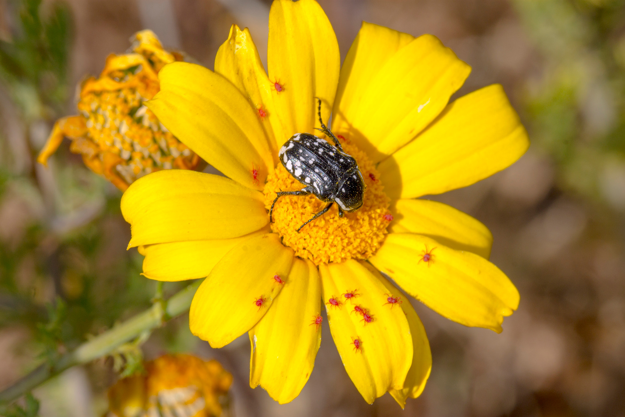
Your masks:
M506 168L528 139L501 86L449 97L469 66L431 35L364 23L339 73L336 36L314 0L274 1L269 74L247 29L232 26L215 72L173 63L146 105L227 178L162 171L134 183L121 208L144 274L207 277L191 305L192 333L219 348L249 331L252 387L280 403L299 394L321 340L324 304L334 343L363 398L389 391L403 406L431 368L424 328L406 293L449 319L501 331L519 293L487 258L492 236L476 219L416 199ZM322 118L356 158L364 204L284 196L301 189L277 160L295 133ZM316 133L319 134L319 133Z

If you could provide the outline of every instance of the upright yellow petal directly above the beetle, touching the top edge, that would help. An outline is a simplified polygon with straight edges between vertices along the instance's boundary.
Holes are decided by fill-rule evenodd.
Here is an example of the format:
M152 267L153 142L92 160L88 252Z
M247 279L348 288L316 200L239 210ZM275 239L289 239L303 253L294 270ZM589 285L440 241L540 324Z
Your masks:
M315 133L317 101L327 121L339 79L339 44L321 6L314 0L277 0L269 11L267 64L274 105L281 119L283 138L295 133ZM278 83L282 91L277 91ZM277 132L276 132L277 133ZM318 133L317 133L318 134Z

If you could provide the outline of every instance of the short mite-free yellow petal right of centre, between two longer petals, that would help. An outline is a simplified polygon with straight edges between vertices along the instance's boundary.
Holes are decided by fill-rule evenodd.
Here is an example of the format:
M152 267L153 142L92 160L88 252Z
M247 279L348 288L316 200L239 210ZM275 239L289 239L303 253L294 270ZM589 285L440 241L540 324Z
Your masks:
M397 200L391 206L392 233L417 233L429 236L452 249L476 253L488 259L492 234L468 214L437 201Z

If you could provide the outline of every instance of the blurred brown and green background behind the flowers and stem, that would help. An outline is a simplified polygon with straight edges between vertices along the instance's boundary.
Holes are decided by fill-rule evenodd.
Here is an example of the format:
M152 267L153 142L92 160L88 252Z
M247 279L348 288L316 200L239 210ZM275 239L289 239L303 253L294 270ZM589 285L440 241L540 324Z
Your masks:
M329 329L309 382L279 406L248 384L247 335L222 349L187 316L154 331L143 356L189 352L234 376L243 416L625 416L625 1L319 0L344 58L362 20L431 33L473 70L455 97L501 83L532 146L516 164L434 199L494 234L491 261L521 292L501 334L465 328L415 303L432 374L406 410L366 404ZM152 29L164 46L213 68L232 23L263 59L269 0L0 0L0 389L44 360L148 308L156 284L126 251L121 191L65 141L34 158L75 89L109 53ZM168 283L172 294L182 288ZM111 358L34 391L41 416L101 416L118 379ZM401 413L401 414L400 414Z

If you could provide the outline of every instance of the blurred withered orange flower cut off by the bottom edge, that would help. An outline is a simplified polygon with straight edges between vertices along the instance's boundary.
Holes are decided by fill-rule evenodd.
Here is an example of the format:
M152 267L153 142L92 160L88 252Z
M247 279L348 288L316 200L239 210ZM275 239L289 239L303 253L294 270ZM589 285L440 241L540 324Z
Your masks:
M215 360L166 354L145 364L145 374L120 379L109 388L109 417L221 415L219 400L232 375Z

